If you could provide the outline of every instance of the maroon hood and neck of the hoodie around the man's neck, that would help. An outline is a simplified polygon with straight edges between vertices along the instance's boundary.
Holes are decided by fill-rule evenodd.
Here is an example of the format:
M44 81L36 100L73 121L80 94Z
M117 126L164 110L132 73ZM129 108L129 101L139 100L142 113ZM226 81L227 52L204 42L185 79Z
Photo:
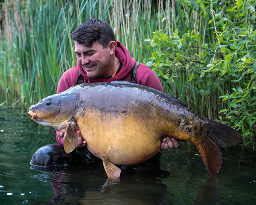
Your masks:
M112 78L89 78L84 71L84 69L81 67L79 63L77 63L79 71L81 75L85 78L87 83L90 82L111 82L111 81L121 81L125 80L126 78L131 78L131 70L133 69L136 61L134 58L131 58L130 53L128 52L127 48L120 42L116 41L117 47L116 47L116 58L119 59L119 61L122 63L121 70Z

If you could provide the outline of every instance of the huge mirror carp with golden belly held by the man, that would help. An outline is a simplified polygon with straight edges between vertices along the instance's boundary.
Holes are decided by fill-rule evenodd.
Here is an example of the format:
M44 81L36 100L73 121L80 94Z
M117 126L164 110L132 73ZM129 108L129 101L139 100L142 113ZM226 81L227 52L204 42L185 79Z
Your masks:
M120 176L116 165L134 165L157 154L167 136L192 141L215 175L222 162L220 147L241 140L233 128L192 112L177 98L125 81L76 85L32 105L29 115L38 124L67 132L67 153L76 148L78 125L110 179Z

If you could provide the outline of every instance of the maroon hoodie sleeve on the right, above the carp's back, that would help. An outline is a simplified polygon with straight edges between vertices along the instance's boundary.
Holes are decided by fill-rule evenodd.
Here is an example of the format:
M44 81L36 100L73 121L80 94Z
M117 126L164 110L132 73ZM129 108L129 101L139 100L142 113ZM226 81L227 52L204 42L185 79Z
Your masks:
M151 87L163 92L163 86L159 78L157 78L157 75L152 69L144 64L140 64L140 66L137 68L136 80L140 85Z

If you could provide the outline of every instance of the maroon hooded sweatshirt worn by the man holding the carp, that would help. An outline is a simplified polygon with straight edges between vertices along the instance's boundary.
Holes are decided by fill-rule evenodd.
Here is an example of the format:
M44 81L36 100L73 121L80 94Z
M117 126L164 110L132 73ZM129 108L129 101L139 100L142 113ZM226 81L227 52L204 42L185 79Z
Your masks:
M84 77L84 83L111 81L131 82L132 69L136 63L136 60L134 58L131 58L130 53L120 41L117 41L116 43L117 47L115 54L119 61L122 63L122 68L114 77L108 79L89 78L84 69L78 63L77 66L74 66L63 73L58 83L57 93L63 92L69 89L70 87L76 85L77 79L79 77L79 71L81 75ZM137 68L136 80L137 84L151 87L163 92L162 84L155 75L154 71L152 71L148 66L145 66L144 64L140 64L139 67ZM58 136L56 136L56 140L59 144L64 143L63 139Z

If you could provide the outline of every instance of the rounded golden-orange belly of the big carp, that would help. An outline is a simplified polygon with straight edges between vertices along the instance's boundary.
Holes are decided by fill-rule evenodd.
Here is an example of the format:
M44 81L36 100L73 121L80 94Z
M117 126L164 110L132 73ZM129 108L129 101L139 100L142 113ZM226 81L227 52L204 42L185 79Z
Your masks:
M133 165L150 159L160 150L165 130L163 119L142 114L86 113L77 122L90 152L115 165Z

